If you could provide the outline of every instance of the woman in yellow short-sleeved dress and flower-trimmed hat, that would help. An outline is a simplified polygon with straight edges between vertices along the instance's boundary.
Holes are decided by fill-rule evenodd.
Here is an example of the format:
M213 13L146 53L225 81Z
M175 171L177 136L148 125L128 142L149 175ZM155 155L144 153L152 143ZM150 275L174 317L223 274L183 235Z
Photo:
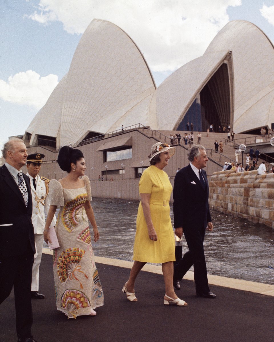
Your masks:
M147 262L162 263L165 282L164 304L186 306L173 288L173 261L175 261L175 239L170 219L169 200L172 185L163 171L175 152L174 147L156 143L151 148L150 167L139 182L141 201L137 214L137 229L133 249L134 264L129 279L123 287L129 301L136 302L134 284L138 273Z

